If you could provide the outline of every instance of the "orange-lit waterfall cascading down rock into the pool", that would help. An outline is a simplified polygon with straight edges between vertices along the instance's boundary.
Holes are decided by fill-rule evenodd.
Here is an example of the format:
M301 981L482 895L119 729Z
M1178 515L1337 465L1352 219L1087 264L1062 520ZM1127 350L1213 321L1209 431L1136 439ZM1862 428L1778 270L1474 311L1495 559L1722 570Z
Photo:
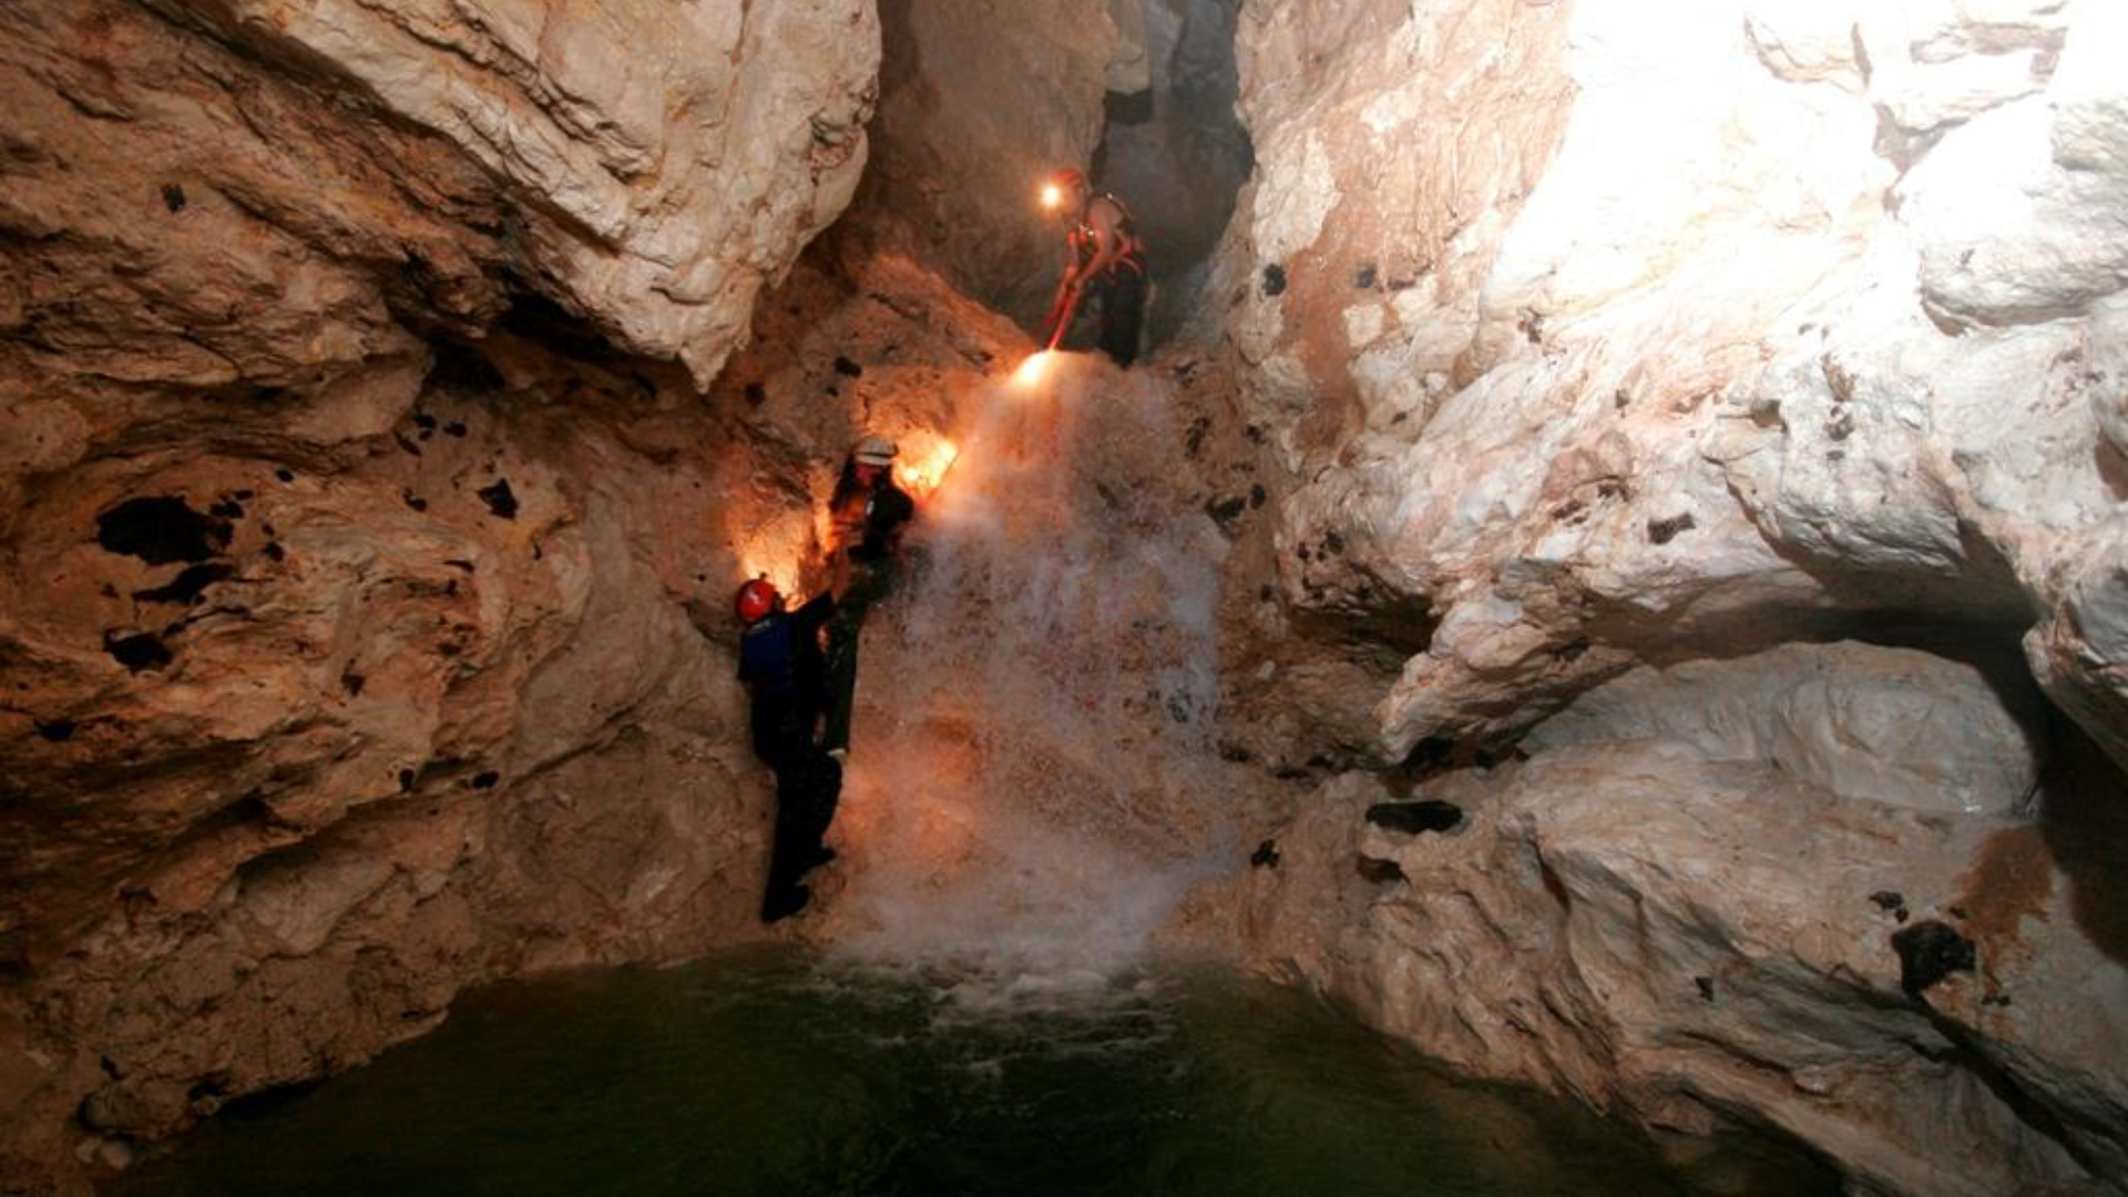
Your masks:
M1230 852L1215 594L1166 381L1081 356L966 407L866 628L838 939L983 999L1102 988Z

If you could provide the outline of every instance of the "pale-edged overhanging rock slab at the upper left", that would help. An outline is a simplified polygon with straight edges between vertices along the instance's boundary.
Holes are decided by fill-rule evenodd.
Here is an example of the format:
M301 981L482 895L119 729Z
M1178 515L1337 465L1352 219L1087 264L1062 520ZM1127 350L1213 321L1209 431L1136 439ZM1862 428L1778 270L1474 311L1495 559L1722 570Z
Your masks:
M0 328L55 373L298 386L506 266L706 381L864 168L866 0L149 9L6 15Z

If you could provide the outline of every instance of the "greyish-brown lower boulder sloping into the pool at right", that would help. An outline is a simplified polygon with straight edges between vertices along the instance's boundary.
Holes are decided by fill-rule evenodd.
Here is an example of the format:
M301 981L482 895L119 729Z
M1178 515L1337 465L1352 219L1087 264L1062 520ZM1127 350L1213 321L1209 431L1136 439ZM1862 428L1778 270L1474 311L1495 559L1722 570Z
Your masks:
M1696 669L1730 669L1743 692L1783 667L1792 686L1868 688L1883 652ZM2009 718L1983 690L1939 701L1960 722ZM1734 711L1696 728L1666 714L1660 737L1583 726L1413 790L1464 809L1445 833L1368 822L1390 790L1339 777L1266 826L1277 867L1202 895L1190 927L1456 1067L1658 1131L1770 1129L1858 1193L2117 1186L2128 941L2079 907L2102 869L2054 837L2119 797L2049 794L2047 822L1913 809L1798 777L1777 743L1732 752ZM1824 718L1858 745L1875 735L1866 707ZM1875 741L1888 771L1915 775L1934 748ZM2034 767L1998 748L1998 769ZM1902 969L1894 935L1926 920L1975 967Z

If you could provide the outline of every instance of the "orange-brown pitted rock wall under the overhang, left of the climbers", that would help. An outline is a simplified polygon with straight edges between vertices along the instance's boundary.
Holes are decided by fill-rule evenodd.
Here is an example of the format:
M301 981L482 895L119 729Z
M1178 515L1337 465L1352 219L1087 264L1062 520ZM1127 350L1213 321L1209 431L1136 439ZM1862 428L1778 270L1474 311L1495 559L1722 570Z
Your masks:
M366 437L264 409L243 452L28 488L6 609L43 665L9 671L0 716L9 777L40 780L0 814L26 846L0 892L11 1184L83 1133L151 1142L360 1063L466 984L760 935L768 780L730 639L679 598L800 581L858 413L936 430L1017 343L907 262L826 256L762 330L779 347L706 398L581 328L589 360L541 347L566 326L496 332ZM149 556L226 571L189 594L194 564L98 543L113 511L202 513ZM111 622L168 660L128 669Z

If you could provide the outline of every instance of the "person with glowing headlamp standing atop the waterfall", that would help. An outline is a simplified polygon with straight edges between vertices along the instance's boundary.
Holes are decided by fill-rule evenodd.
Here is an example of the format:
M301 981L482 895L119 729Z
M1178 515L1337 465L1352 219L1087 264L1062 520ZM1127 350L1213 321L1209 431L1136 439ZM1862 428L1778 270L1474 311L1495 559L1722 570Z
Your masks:
M1138 360L1145 326L1145 243L1138 241L1124 200L1096 194L1085 173L1062 168L1043 187L1043 204L1064 222L1064 279L1049 305L1047 347L1064 341L1079 300L1092 294L1100 305L1100 351L1115 364Z

